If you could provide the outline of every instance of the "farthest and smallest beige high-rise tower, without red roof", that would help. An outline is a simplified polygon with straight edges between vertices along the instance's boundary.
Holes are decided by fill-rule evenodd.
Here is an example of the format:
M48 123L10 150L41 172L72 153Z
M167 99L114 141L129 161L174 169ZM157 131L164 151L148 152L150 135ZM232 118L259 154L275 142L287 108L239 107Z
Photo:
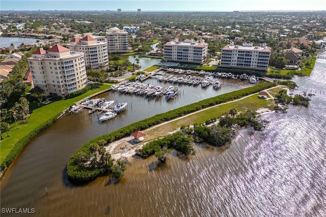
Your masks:
M128 33L118 28L106 30L107 51L109 53L128 52Z

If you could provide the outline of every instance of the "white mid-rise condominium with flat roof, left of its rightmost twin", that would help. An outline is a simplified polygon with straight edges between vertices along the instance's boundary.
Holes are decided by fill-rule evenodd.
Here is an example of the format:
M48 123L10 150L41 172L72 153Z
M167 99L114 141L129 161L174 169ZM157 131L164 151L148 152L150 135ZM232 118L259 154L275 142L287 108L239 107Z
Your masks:
M169 61L202 63L207 55L208 44L201 40L180 42L177 38L164 45L164 59Z

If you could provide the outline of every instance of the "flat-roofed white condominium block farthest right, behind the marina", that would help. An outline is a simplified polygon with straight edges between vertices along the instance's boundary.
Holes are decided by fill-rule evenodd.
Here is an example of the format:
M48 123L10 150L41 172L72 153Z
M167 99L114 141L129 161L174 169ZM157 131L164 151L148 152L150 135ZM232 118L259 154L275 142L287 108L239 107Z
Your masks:
M242 46L229 45L222 49L221 66L268 71L271 48L263 43L253 46L253 43L243 43Z

